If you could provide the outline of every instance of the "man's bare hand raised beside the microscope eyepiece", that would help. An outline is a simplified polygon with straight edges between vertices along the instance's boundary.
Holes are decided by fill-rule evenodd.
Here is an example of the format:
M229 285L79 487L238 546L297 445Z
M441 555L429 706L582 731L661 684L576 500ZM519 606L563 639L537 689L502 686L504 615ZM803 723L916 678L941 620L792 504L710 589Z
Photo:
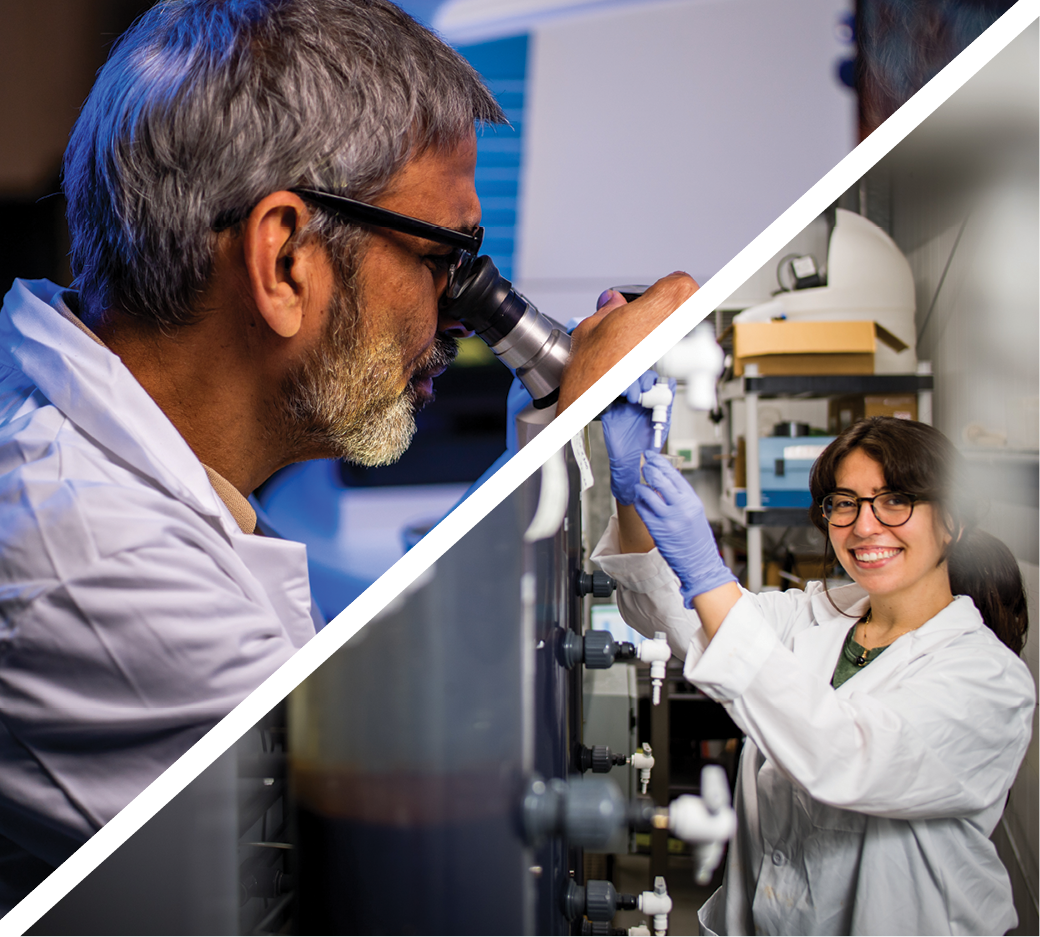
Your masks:
M571 334L571 360L560 384L556 413L563 413L580 397L697 288L692 277L677 271L662 277L631 303L613 292L599 311Z

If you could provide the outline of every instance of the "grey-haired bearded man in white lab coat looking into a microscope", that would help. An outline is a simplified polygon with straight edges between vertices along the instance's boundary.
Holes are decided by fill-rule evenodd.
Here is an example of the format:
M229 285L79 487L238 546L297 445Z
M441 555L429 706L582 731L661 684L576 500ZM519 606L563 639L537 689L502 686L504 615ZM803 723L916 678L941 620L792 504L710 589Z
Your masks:
M503 120L386 0L170 0L113 49L66 154L78 291L0 314L0 910L314 634L305 549L246 497L407 448ZM695 289L612 296L560 407Z

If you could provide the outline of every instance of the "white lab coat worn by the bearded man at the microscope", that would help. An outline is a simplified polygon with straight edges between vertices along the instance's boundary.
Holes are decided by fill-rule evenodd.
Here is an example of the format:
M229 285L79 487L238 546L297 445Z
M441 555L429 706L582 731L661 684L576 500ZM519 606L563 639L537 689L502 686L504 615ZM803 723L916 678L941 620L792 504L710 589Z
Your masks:
M240 530L62 303L0 312L0 912L315 630L304 546Z

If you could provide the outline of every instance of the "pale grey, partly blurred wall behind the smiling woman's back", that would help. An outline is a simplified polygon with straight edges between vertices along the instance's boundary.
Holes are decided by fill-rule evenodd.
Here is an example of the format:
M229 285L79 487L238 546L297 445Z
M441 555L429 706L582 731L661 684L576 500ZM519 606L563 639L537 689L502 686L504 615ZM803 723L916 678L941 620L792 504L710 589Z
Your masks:
M935 424L968 459L983 526L1015 553L1030 593L1023 659L1037 678L1038 29L1028 29L867 178L890 193L891 233L917 284L918 356L935 371ZM1036 934L1037 722L994 834L1019 928Z

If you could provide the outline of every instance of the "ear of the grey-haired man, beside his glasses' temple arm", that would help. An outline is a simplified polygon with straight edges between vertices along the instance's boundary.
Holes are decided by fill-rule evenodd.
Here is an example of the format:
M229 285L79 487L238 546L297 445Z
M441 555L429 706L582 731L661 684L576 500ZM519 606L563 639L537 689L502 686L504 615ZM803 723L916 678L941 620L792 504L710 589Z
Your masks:
M242 232L253 302L282 338L292 338L300 331L304 308L315 289L314 278L319 275L319 250L302 245L296 237L307 217L307 206L298 196L271 192L250 212Z

